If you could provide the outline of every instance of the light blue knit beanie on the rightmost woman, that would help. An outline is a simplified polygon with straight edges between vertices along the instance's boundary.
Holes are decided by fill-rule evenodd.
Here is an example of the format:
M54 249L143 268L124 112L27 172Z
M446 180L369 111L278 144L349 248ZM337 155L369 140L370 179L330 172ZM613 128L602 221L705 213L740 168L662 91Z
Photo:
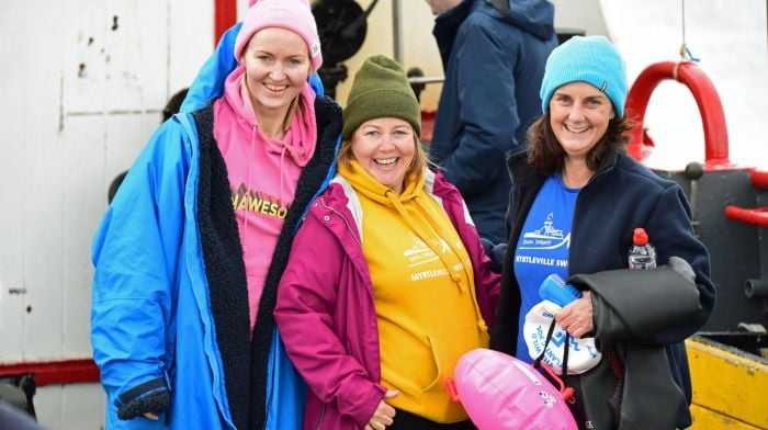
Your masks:
M550 108L550 99L557 88L576 81L590 83L605 92L613 103L615 115L624 116L626 67L605 36L574 36L550 54L539 92L541 111Z

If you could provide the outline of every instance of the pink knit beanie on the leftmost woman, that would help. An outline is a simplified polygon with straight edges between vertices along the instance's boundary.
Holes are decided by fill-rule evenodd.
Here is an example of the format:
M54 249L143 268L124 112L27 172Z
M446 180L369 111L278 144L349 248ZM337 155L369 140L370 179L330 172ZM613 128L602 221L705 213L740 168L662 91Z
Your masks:
M235 59L240 60L242 50L259 30L280 27L302 36L309 52L312 71L320 68L320 37L307 0L249 0L248 3L250 9L235 39Z

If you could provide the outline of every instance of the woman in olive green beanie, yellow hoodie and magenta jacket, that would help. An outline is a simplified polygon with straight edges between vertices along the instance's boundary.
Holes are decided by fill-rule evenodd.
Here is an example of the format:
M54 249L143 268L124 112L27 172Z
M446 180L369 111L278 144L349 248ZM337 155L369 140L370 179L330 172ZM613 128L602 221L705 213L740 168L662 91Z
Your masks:
M474 428L443 385L488 346L499 278L459 191L427 167L420 117L403 68L366 59L338 174L296 234L274 310L309 386L305 429Z

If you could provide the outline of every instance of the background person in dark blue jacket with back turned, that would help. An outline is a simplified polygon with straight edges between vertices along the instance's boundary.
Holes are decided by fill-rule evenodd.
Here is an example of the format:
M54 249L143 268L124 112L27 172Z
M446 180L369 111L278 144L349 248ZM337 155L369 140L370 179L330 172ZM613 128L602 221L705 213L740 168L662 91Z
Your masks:
M504 160L524 147L541 115L538 90L557 45L544 0L427 0L445 81L430 159L466 201L481 237L506 239L509 176Z

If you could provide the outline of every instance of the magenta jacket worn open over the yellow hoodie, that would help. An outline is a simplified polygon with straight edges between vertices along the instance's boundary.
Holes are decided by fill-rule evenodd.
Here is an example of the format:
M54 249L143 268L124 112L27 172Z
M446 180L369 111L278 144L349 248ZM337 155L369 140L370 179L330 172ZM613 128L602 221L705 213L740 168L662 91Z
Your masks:
M490 327L499 276L490 271L464 201L432 171L425 191L442 203L470 253L477 302ZM278 288L275 321L309 386L304 429L362 429L386 392L380 384L379 328L360 245L361 217L355 192L337 176L305 215Z

